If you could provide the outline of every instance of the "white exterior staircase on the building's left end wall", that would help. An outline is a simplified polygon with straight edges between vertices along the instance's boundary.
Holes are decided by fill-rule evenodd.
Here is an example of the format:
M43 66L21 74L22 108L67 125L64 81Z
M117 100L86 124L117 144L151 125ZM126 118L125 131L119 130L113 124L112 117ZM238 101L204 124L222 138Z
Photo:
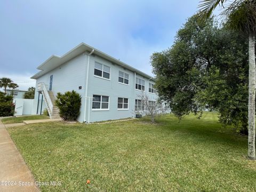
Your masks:
M55 106L55 97L52 91L47 91L43 82L38 83L37 89L42 92L43 98L51 119L60 118L59 108Z

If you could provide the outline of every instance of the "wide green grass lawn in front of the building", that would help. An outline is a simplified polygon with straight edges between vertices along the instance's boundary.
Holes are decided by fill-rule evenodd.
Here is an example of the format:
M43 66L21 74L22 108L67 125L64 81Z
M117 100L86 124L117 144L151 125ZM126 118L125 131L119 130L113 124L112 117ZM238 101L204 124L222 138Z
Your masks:
M216 113L8 130L37 181L61 181L42 191L256 191L246 137Z

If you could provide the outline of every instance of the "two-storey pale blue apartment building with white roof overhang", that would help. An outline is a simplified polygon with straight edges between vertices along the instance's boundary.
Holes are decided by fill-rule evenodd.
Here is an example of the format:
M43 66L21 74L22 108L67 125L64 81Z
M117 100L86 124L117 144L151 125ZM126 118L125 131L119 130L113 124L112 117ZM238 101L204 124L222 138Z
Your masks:
M61 57L52 55L37 69L31 77L36 79L34 114L47 108L51 118L58 118L55 95L71 90L82 96L79 122L134 117L135 110L144 110L141 92L157 99L153 77L85 43Z

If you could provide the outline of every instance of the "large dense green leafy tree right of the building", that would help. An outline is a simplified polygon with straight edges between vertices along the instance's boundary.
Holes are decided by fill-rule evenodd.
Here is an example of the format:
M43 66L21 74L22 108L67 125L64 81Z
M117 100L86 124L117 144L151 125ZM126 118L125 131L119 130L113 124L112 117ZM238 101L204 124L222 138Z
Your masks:
M247 133L247 36L218 27L211 17L189 18L172 47L151 55L158 95L169 101L180 119L206 105L220 114L223 125Z

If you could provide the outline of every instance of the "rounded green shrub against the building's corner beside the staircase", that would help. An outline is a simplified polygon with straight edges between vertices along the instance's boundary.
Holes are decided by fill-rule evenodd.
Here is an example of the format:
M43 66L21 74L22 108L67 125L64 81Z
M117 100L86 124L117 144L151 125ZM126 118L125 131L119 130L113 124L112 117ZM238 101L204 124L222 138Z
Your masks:
M55 103L60 109L60 117L66 121L75 121L80 114L81 96L74 90L57 93Z

